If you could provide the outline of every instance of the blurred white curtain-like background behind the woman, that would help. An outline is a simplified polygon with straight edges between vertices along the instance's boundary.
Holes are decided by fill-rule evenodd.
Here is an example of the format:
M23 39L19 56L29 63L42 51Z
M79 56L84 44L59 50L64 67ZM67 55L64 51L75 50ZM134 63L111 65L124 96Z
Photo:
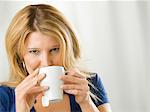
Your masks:
M82 67L101 74L113 112L150 112L150 7L146 1L0 1L0 81L8 79L4 37L15 13L27 4L50 3L74 25Z

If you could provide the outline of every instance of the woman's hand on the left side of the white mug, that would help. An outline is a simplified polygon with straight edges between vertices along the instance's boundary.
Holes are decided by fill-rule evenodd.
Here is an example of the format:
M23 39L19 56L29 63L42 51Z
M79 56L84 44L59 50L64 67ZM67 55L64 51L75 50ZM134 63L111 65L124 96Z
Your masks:
M48 89L39 85L44 78L45 74L38 75L37 69L16 87L16 112L30 112L36 96Z

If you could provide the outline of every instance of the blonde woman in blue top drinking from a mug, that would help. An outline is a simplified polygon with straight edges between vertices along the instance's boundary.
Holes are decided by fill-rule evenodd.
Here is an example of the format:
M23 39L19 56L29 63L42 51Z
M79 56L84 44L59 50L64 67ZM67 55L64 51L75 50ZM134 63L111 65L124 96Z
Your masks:
M29 5L13 18L6 34L10 81L0 86L0 111L4 112L110 112L99 76L77 65L80 48L71 25L50 5ZM64 98L43 107L41 97L50 89L40 86L45 74L38 68L63 66Z

